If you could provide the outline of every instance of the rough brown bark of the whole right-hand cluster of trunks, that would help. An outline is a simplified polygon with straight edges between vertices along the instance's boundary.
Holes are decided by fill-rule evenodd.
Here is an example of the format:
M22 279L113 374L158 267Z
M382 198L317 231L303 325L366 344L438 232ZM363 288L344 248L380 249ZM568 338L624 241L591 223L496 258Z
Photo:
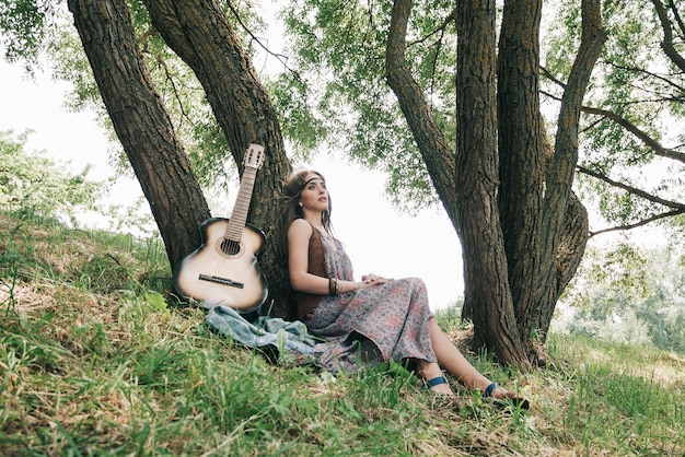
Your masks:
M405 62L410 0L393 8L387 82L462 242L464 316L474 321L474 343L510 365L527 367L535 360L532 330L546 335L588 239L587 212L571 192L578 142L569 140L577 139L580 101L601 49L597 4L583 2L585 33L553 150L538 98L542 1L504 4L497 85L495 2L457 3L454 168ZM451 181L445 174L452 169Z

